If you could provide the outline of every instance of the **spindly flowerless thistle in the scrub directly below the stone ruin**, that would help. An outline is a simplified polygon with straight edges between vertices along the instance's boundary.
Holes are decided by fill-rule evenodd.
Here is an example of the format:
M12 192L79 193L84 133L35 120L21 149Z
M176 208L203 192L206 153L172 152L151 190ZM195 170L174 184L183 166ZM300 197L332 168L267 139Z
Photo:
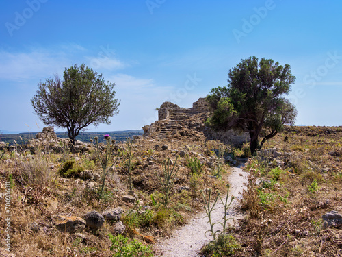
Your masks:
M176 175L179 171L179 169L174 170L174 167L176 167L176 163L178 160L179 156L177 156L174 165L172 169L170 169L170 158L168 158L167 161L163 161L162 167L163 167L163 176L159 176L157 174L157 178L159 179L159 182L163 186L163 206L166 208L168 205L169 201L169 194L170 194L170 189L172 188L174 184L174 178L176 178Z

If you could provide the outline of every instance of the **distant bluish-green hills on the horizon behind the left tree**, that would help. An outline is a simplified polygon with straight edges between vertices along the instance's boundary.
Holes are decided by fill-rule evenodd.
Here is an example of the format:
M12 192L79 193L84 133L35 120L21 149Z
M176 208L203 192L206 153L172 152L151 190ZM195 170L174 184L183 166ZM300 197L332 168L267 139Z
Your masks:
M27 143L28 140L36 138L36 134L38 134L38 132L2 134L1 141L5 143L10 143L10 145L15 144L15 142L18 144L25 144ZM117 142L122 142L126 138L132 138L133 136L141 136L142 134L144 134L144 131L143 130L122 130L122 131L109 131L109 132L82 132L79 134L79 136L76 137L76 139L83 141L83 142L89 142L91 138L98 136L98 141L103 142L103 135L105 134L109 134L109 136L111 136L111 138L113 138ZM57 132L56 135L59 138L68 138L68 132Z

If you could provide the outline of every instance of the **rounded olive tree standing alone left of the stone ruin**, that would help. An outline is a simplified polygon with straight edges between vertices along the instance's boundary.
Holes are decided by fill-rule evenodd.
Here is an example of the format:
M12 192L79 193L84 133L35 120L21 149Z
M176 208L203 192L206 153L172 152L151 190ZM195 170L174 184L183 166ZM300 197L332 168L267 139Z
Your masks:
M45 125L66 128L75 145L76 136L88 125L111 123L109 118L118 114L120 105L115 94L114 83L75 64L64 70L63 79L55 75L40 82L31 103Z

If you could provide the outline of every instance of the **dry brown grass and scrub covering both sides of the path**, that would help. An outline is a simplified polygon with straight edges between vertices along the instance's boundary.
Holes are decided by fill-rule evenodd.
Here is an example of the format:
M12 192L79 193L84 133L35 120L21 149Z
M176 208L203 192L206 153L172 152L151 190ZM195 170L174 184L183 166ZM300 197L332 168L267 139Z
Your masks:
M342 212L342 127L287 127L265 143L262 156L252 157L245 165L250 171L248 189L241 201L246 218L228 228L235 238L235 256L342 256L341 227L326 227L322 215L330 210ZM163 150L162 145L168 145ZM125 147L124 144L118 148ZM221 145L222 147L222 145ZM16 256L113 256L108 234L115 234L111 223L101 229L86 228L81 234L56 230L55 215L81 217L90 210L102 212L121 206L121 220L126 225L124 236L153 245L157 238L168 236L172 229L187 221L196 210L203 210L198 191L213 188L224 191L224 181L215 178L208 165L198 176L192 176L187 160L197 158L218 168L219 158L213 149L218 142L196 136L176 135L165 141L137 140L133 144L132 182L139 204L122 200L129 191L129 177L120 158L107 177L103 199L96 187L82 179L62 178L60 168L65 153L38 151L6 151L0 160L0 192L5 182L12 184L11 246ZM185 151L179 158L174 187L168 208L163 208L162 162ZM233 149L229 149L233 151ZM235 156L248 155L248 147L234 149ZM276 153L276 154L274 154ZM0 156L2 154L0 153ZM277 156L277 157L276 157ZM94 152L69 154L75 169L101 173ZM224 167L228 170L228 164ZM94 185L93 185L94 186ZM189 187L179 190L181 186ZM5 200L1 195L2 231ZM127 214L133 209L131 215ZM132 215L133 214L133 215ZM0 247L5 248L5 241Z

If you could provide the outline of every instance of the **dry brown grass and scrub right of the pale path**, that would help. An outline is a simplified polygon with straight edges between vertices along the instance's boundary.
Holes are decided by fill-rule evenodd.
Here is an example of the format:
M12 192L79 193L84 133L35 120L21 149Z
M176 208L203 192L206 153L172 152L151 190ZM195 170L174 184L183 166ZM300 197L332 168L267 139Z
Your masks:
M330 210L342 212L341 143L342 127L287 127L265 145L278 158L264 151L264 160L248 161L247 216L231 229L237 256L342 256L341 225L322 222Z

